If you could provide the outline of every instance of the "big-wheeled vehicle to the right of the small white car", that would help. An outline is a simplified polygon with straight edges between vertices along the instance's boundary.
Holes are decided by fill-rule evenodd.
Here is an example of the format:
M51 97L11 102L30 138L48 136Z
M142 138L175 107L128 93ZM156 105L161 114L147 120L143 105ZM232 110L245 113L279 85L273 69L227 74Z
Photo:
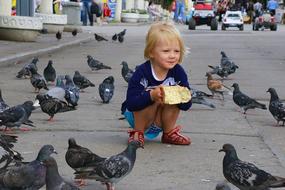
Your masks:
M271 31L276 31L277 23L275 17L269 12L264 12L259 17L256 17L252 23L252 30L258 31L259 29L270 29Z

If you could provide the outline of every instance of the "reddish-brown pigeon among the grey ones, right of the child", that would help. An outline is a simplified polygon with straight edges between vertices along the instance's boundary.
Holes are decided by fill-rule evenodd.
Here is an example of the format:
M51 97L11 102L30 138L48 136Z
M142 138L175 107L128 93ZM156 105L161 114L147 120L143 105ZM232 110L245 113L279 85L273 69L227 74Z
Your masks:
M213 96L216 93L220 94L222 96L222 99L224 100L224 93L232 95L230 88L225 86L221 81L213 79L210 73L206 73L206 76L208 89L212 92Z

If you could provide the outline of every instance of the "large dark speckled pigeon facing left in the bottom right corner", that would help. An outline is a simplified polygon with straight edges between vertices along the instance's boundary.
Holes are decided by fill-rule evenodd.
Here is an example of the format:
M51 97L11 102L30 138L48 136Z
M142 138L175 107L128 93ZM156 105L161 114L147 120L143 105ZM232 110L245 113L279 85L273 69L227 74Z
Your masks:
M224 144L219 152L225 152L223 159L224 177L241 190L269 190L285 187L285 178L272 176L254 164L241 161L231 144Z

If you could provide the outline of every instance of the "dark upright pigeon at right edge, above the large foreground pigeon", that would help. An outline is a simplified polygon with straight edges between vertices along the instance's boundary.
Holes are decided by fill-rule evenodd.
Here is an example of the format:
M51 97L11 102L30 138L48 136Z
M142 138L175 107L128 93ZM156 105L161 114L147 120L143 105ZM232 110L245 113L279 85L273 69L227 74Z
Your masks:
M285 104L279 100L278 94L274 88L269 88L267 92L270 93L269 111L277 121L277 126L279 122L282 121L282 126L285 123Z

